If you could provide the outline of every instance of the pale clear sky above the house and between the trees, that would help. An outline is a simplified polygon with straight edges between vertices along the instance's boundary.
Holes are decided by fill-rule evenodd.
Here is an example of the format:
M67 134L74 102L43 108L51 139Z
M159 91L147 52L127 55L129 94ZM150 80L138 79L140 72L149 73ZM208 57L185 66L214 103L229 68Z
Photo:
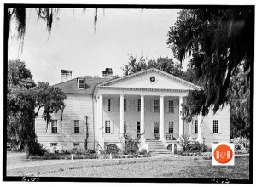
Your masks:
M50 36L46 22L28 9L22 52L12 30L9 59L20 59L35 82L61 82L61 70L79 76L100 76L105 68L123 75L129 54L148 59L173 58L167 31L177 20L176 9L61 9L53 20ZM12 25L15 26L15 25Z

